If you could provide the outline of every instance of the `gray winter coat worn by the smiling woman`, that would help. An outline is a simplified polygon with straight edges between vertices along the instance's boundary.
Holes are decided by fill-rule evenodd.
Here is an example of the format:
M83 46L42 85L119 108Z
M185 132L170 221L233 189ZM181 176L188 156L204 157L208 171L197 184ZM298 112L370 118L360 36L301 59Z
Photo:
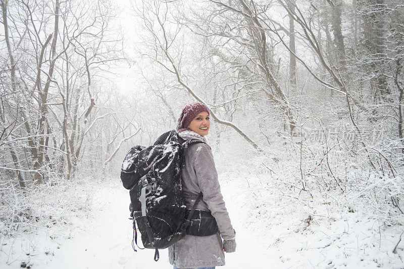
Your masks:
M206 142L204 137L193 131L180 132L180 136L187 140L196 138ZM182 184L187 208L192 207L198 193L203 193L196 208L211 211L218 223L219 232L211 236L186 235L169 247L170 263L173 264L175 256L178 268L224 265L222 238L234 239L235 232L220 192L212 151L207 144L198 143L188 147L185 168L182 169Z

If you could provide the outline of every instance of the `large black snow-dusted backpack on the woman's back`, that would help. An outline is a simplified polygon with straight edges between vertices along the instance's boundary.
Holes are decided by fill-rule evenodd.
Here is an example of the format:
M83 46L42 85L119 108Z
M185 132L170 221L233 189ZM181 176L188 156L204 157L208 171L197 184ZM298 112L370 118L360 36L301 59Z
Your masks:
M156 261L158 249L167 248L185 236L202 196L202 193L197 196L191 210L186 209L181 169L187 147L193 143L204 142L186 141L175 130L168 131L153 146L131 148L122 164L122 184L130 190L133 250L136 251L134 243L137 245L137 223L143 246L156 249Z

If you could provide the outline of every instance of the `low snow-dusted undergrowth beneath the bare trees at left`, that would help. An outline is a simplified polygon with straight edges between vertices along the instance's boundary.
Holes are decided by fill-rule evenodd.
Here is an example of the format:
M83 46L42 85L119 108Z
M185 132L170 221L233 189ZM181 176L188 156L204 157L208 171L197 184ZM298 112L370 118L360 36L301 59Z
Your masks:
M91 210L93 189L88 178L65 181L54 178L47 185L16 187L2 182L0 189L0 234L13 237L38 228L68 227L74 218Z

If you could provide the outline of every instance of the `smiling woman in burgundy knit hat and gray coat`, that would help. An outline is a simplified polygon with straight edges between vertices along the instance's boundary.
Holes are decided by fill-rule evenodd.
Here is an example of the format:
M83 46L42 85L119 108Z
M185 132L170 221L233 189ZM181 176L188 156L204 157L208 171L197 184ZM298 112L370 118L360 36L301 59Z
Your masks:
M173 268L215 268L224 265L224 251L236 249L235 231L220 192L218 175L211 148L204 136L210 128L209 109L201 103L192 103L182 109L177 131L186 140L198 139L204 143L190 144L182 169L182 187L187 208L191 208L197 195L203 197L196 209L210 210L219 231L210 236L186 235L169 247L169 259ZM222 242L223 238L224 242Z

